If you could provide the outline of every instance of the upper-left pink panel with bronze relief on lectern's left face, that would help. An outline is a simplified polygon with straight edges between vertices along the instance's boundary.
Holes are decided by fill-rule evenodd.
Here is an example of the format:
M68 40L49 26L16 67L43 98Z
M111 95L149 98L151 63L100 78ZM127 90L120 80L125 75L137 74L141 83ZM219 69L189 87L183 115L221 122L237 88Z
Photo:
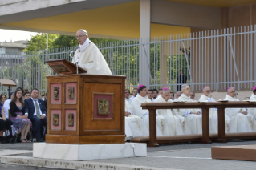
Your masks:
M62 88L61 83L51 84L51 104L61 104Z

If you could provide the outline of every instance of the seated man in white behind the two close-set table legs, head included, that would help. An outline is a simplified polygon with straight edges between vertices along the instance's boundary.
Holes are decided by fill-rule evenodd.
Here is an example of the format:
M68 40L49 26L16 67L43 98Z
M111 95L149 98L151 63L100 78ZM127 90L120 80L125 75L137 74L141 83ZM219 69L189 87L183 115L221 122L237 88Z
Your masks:
M203 88L203 95L201 95L199 102L216 102L215 99L212 98L212 91L210 87L205 86ZM230 132L230 117L225 115L225 132ZM210 132L217 133L217 108L209 109L209 127L212 129Z

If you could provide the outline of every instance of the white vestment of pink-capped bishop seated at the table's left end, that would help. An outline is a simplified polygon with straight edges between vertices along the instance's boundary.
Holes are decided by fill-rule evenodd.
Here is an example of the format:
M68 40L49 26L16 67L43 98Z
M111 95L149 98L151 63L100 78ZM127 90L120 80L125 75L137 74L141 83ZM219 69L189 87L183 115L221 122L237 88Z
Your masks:
M148 96L142 97L139 94L132 99L132 114L144 119L144 123L149 131L149 111L142 109L141 103L151 102ZM169 136L168 126L165 121L165 117L162 115L156 115L156 136Z

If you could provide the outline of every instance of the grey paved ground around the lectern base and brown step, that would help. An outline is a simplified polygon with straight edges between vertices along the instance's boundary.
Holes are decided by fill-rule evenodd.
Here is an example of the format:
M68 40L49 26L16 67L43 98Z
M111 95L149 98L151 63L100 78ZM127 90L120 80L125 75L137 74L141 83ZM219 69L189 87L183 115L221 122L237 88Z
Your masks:
M212 146L230 146L230 145L250 145L256 144L255 140L231 140L227 144L168 144L161 145L158 148L148 148L147 157L134 157L124 159L109 159L109 160L90 160L78 161L79 164L114 164L122 166L137 166L150 167L151 169L188 169L188 170L216 170L216 169L255 169L256 163L253 161L237 161L237 160L213 160L211 159L210 148ZM18 153L12 156L32 157L32 144L0 144L0 150L12 149ZM11 153L10 153L11 154ZM0 164L0 169L52 169L52 168L37 168L20 165ZM56 169L56 168L55 168ZM90 169L90 168L88 168ZM112 169L112 168L109 168ZM142 169L142 168L139 168Z

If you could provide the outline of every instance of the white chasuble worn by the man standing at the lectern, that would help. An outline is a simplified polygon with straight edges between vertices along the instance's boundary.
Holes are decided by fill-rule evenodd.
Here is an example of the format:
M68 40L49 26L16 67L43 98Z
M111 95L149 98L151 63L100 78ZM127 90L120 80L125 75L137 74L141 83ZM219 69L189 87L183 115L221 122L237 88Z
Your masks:
M75 51L72 63L78 62L79 67L87 71L88 75L112 75L108 63L98 47L93 42L88 42L87 47Z

